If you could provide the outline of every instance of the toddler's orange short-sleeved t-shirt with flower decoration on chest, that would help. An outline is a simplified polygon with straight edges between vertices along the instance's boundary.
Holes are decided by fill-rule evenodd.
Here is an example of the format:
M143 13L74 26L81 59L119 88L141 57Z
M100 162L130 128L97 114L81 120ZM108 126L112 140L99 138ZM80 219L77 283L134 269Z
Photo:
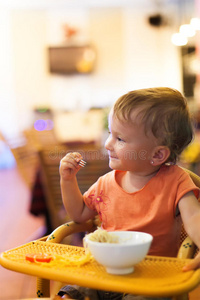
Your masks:
M97 212L102 228L108 231L133 230L153 235L150 255L176 256L181 217L176 216L179 200L189 191L199 197L199 189L178 166L162 166L139 191L128 193L111 171L100 177L84 194L86 205Z

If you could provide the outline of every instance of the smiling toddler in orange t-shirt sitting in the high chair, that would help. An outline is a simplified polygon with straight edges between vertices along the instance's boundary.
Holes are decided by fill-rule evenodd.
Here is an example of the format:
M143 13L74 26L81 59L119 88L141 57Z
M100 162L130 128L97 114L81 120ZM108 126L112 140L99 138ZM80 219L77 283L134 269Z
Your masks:
M183 222L200 247L199 190L176 165L193 138L186 99L166 87L131 91L116 101L108 121L105 148L112 171L84 195L76 179L82 156L68 153L61 160L61 191L69 216L81 223L98 215L105 230L150 233L153 243L148 254L171 257L177 255ZM183 271L198 267L200 255ZM64 287L59 295L66 299L84 299L85 295L92 300L145 299L73 286Z

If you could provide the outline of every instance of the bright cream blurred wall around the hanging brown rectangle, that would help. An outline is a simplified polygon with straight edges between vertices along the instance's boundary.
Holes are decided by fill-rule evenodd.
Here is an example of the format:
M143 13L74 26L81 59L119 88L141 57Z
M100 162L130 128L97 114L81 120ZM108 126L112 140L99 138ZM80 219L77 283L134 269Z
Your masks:
M0 79L6 74L4 98L12 104L8 112L1 101L1 115L17 116L10 126L22 130L32 124L32 109L37 106L87 110L109 106L131 89L158 85L182 89L179 53L170 41L173 28L150 26L148 14L144 7L9 11L4 20L9 34L0 34L2 41L7 39L10 61L4 73L0 70ZM97 48L94 74L48 73L46 49L64 42L63 23L78 26L80 41ZM7 130L4 122L0 126Z

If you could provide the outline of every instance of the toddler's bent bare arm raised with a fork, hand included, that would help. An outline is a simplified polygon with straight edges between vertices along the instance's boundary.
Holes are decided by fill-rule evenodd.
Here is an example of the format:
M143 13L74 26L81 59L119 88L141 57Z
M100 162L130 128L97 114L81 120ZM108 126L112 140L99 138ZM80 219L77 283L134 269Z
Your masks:
M76 174L80 170L79 161L82 156L78 152L68 153L60 162L60 185L63 204L69 216L75 222L84 222L95 216L83 201L78 187Z

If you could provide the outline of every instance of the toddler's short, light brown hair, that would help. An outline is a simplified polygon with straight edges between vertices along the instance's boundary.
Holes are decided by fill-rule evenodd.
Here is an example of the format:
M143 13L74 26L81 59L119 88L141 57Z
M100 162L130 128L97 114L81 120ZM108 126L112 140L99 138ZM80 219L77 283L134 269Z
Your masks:
M131 91L114 104L113 114L122 121L133 122L131 112L139 115L161 145L170 149L166 162L176 163L178 156L193 138L193 128L186 98L167 87Z

